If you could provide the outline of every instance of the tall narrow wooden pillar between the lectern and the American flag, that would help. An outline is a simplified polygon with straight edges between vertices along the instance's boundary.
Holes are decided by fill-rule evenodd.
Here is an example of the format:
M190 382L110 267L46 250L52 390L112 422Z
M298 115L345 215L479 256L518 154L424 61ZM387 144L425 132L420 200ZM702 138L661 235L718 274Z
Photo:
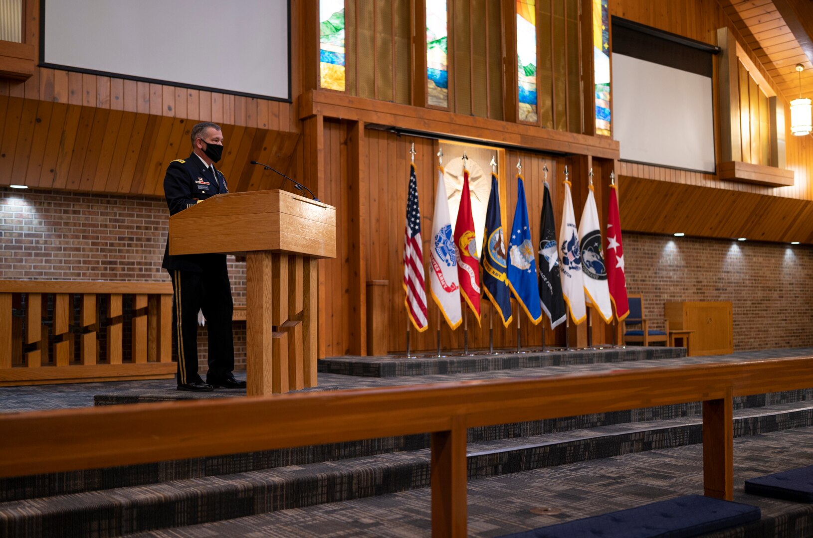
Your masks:
M350 353L367 355L367 141L364 123L347 128L347 190L350 220Z

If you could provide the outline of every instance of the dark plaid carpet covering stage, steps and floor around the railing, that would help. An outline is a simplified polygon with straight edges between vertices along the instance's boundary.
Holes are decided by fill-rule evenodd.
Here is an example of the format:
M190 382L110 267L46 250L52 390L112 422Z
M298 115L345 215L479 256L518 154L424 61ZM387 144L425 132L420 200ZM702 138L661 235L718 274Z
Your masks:
M631 348L620 355L618 351L545 353L539 359L527 353L523 355L528 360L511 362L506 357L473 367L452 364L459 370L480 369L475 372L397 377L369 377L365 372L376 368L371 364L391 368L387 364L397 363L398 357L342 357L334 359L335 364L359 375L320 373L320 386L311 390L813 355L813 348L713 357L686 357L680 348ZM409 360L424 361L420 368L437 368L436 372L450 366L433 364L434 359ZM543 359L547 365L529 366ZM493 364L515 369L486 368ZM0 411L8 412L234 398L245 392L184 393L175 390L172 381L157 380L8 387L0 394ZM762 507L764 525L813 529L813 510L783 501L744 499L741 485L752 476L813 463L813 389L735 398L734 410L737 500ZM701 493L701 442L700 402L470 428L470 535L500 536ZM192 538L246 536L254 529L263 536L428 536L428 446L428 434L422 434L0 480L0 535L142 532ZM720 536L784 535L760 531Z

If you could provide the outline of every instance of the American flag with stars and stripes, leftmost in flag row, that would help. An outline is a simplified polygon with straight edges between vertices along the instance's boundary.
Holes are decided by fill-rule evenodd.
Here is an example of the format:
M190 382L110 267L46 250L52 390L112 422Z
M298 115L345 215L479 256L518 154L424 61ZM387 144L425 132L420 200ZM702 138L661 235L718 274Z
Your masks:
M426 292L424 291L424 246L420 239L420 208L415 165L410 166L409 197L406 200L404 291L406 291L406 312L409 313L415 329L426 330L428 322L426 321Z

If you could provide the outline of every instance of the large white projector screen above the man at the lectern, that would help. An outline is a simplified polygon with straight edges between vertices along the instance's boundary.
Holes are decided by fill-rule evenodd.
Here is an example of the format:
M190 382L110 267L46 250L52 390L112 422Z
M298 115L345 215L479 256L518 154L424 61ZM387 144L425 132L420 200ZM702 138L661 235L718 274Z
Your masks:
M289 0L46 0L50 67L290 101Z

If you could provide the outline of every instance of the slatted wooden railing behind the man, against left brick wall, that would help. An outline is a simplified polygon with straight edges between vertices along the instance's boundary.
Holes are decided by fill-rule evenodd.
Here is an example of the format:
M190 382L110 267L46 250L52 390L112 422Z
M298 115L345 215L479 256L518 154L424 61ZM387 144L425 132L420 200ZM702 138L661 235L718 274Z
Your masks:
M172 284L0 281L0 386L168 378L175 371Z

